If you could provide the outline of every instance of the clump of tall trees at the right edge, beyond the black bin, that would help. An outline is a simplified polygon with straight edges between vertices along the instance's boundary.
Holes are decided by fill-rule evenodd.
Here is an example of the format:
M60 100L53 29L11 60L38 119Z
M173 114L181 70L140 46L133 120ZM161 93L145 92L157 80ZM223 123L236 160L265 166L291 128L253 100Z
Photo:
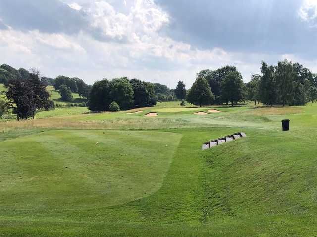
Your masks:
M284 60L276 66L261 64L262 75L252 75L248 99L264 105L305 105L317 99L317 76L299 63Z

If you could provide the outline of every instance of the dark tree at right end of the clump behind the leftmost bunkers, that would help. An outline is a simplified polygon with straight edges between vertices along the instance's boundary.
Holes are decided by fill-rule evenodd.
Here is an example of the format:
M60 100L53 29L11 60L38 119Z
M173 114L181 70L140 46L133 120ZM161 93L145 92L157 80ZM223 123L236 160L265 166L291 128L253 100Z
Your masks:
M134 107L149 106L151 97L146 84L138 79L131 79L130 83L133 89Z

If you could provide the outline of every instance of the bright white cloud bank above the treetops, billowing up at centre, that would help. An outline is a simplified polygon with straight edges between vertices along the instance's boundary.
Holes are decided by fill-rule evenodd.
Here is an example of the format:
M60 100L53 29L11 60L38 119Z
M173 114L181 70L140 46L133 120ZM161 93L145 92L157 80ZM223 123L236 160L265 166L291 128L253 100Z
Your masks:
M282 58L281 55L230 52L221 47L203 50L174 40L161 31L170 23L170 16L153 0L120 1L124 10L114 5L116 1L76 1L69 1L68 5L83 13L94 31L83 29L67 35L2 30L0 61L17 68L37 67L49 77L77 76L91 84L104 77L128 76L169 87L183 80L190 87L202 69L233 64L248 81L251 73L259 73L261 60L275 64ZM305 15L305 7L301 13L303 20L315 14ZM96 32L100 32L100 38L94 35ZM316 62L309 65L317 68Z

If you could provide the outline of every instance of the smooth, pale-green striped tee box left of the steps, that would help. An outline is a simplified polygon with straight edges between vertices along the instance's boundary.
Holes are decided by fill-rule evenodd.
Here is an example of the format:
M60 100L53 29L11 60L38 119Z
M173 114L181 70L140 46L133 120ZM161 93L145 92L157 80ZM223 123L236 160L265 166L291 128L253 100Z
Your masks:
M159 190L180 137L58 130L5 141L0 208L91 209L146 197Z

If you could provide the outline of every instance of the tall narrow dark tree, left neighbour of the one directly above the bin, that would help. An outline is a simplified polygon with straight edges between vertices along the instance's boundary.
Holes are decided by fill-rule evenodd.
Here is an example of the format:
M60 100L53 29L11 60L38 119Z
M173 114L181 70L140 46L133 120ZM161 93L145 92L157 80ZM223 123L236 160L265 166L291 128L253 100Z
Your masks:
M261 103L273 106L276 103L275 68L262 61L259 95Z

